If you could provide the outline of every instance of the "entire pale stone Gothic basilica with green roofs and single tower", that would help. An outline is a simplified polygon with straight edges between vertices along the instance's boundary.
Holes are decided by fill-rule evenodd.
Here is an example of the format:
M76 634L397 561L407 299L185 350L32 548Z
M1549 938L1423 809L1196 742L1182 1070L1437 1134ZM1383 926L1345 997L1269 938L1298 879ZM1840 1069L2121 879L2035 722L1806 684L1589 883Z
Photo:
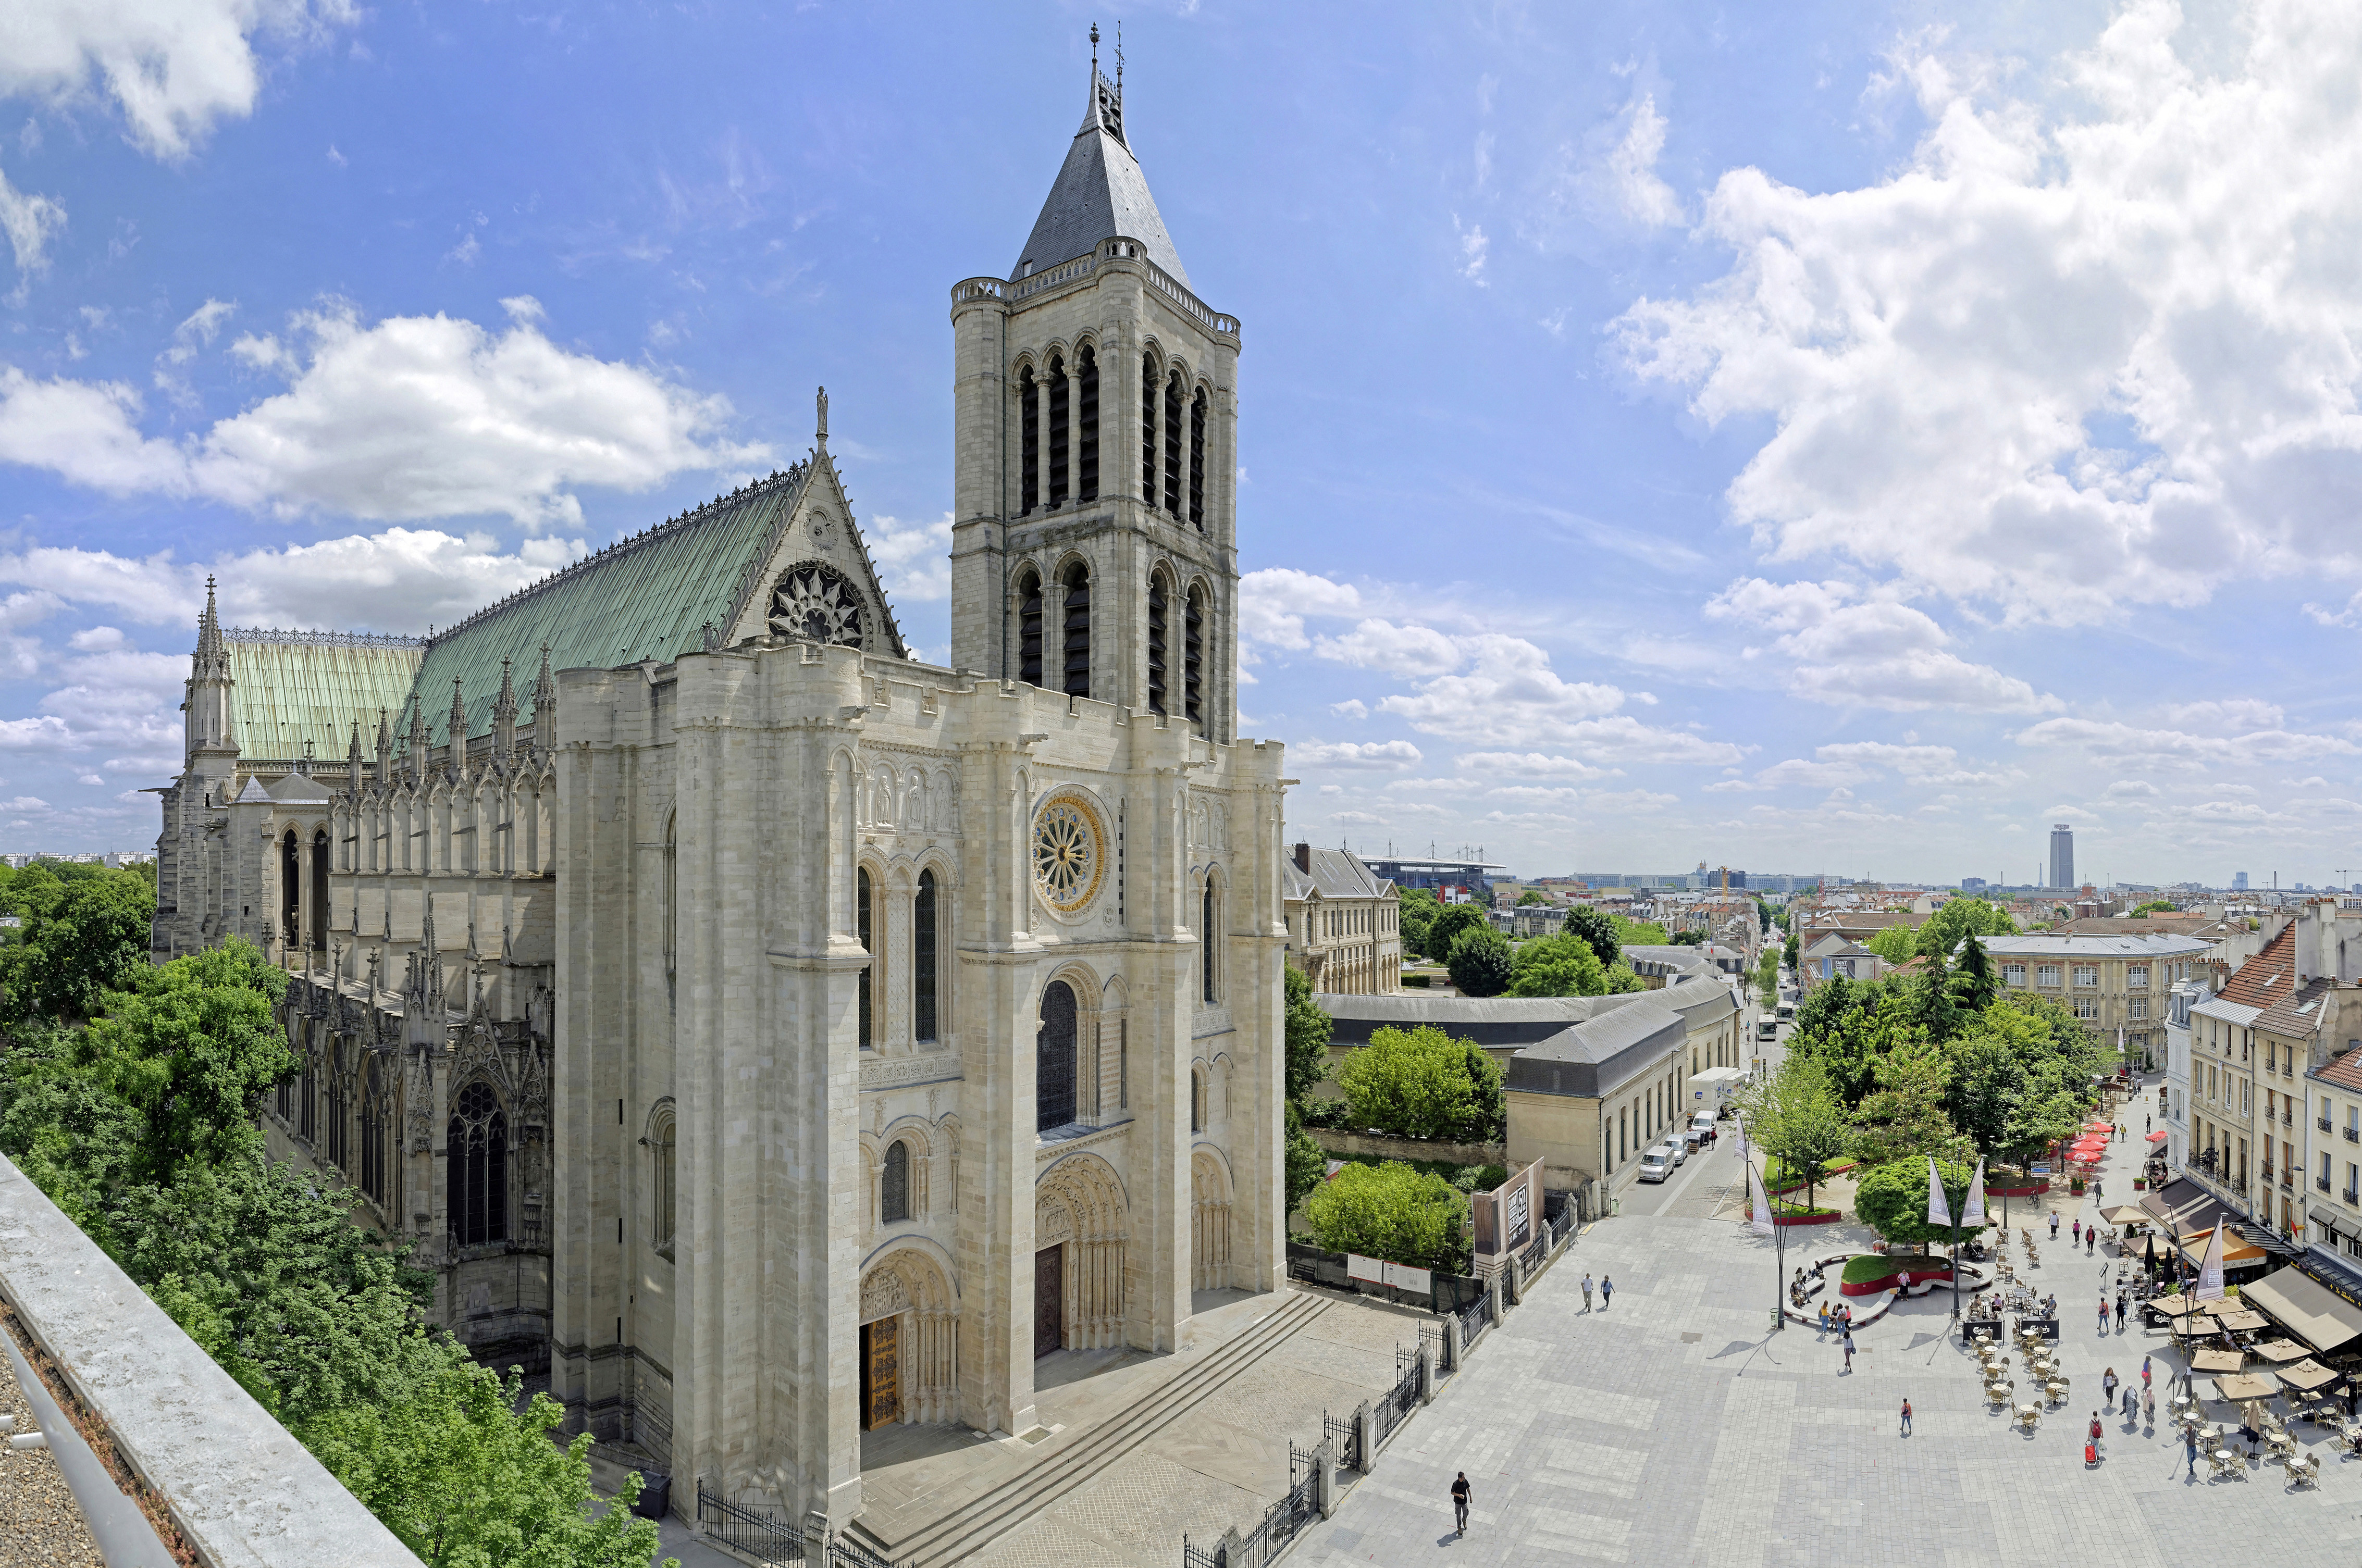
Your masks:
M1089 109L950 300L952 659L829 456L430 638L198 623L156 959L293 982L276 1155L576 1429L791 1516L1285 1275L1280 746L1235 734L1238 321ZM1219 1292L1219 1294L1216 1294Z

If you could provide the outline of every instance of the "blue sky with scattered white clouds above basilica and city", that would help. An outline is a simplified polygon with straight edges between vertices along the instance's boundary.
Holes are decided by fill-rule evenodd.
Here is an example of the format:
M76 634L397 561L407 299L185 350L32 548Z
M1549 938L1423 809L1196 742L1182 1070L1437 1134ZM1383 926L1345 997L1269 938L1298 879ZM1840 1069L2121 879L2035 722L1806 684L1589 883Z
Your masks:
M154 838L205 571L423 631L810 444L947 645L947 290L1082 7L0 19L0 841ZM990 17L990 21L987 21ZM1124 19L1245 324L1242 730L1323 843L2353 881L2350 5Z

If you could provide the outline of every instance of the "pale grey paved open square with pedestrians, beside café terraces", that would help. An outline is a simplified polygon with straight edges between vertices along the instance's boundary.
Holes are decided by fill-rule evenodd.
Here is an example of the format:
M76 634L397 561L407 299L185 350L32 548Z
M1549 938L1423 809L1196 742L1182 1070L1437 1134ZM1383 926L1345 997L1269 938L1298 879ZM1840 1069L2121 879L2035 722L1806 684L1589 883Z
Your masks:
M2152 1100L2154 1103L2154 1100ZM2109 1202L2133 1195L2135 1100L2107 1171ZM1701 1169L1715 1178L1736 1152ZM1696 1162L1691 1162L1696 1164ZM1668 1183L1670 1188L1672 1183ZM1698 1197L1694 1188L1691 1200ZM2185 1478L2164 1431L2107 1417L2097 1469L2083 1431L2114 1367L2138 1384L2154 1358L2159 1407L2180 1372L2166 1334L2097 1332L2100 1259L2067 1254L2067 1221L2095 1204L2060 1200L2060 1242L2029 1278L2057 1292L2074 1400L2031 1436L1989 1415L1968 1358L1944 1334L1949 1296L1899 1304L1857 1334L1854 1370L1807 1327L1769 1337L1772 1240L1727 1219L1618 1216L1592 1226L1313 1525L1292 1563L1715 1563L1786 1568L1883 1563L2142 1563L2244 1551L2350 1563L2362 1547L2362 1462L2301 1426L2319 1490L2289 1490L2279 1466ZM2017 1223L2043 1223L2012 1207ZM1800 1252L1790 1233L1790 1268ZM1861 1244L1852 1228L1805 1233L1802 1254ZM2020 1252L2020 1259L2024 1254ZM1583 1311L1583 1273L1616 1278L1611 1311ZM2022 1372L2020 1372L2022 1377ZM2201 1379L2204 1391L2204 1379ZM1899 1407L1913 1405L1913 1436ZM2230 1405L2208 1405L2213 1419ZM1469 1535L1453 1535L1455 1471L1474 1485Z

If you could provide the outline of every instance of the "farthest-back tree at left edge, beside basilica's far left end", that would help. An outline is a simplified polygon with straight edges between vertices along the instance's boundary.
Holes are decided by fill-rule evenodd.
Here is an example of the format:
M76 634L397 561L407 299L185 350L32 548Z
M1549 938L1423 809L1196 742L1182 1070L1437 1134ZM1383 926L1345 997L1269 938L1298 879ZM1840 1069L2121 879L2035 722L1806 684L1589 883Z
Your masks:
M0 949L0 1027L80 1023L149 963L156 886L137 871L35 862L7 881L0 907L24 921Z

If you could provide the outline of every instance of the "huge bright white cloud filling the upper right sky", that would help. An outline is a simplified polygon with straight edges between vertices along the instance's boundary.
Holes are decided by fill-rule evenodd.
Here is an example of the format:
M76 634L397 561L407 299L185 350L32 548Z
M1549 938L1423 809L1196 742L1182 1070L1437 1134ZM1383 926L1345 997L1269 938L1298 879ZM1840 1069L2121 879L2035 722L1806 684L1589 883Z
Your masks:
M1616 359L1772 420L1727 503L1781 560L2062 623L2362 574L2362 12L2249 19L2201 73L2173 5L2123 5L2062 61L2081 116L1911 50L1908 163L1828 194L1722 175L1731 269L1635 302Z

